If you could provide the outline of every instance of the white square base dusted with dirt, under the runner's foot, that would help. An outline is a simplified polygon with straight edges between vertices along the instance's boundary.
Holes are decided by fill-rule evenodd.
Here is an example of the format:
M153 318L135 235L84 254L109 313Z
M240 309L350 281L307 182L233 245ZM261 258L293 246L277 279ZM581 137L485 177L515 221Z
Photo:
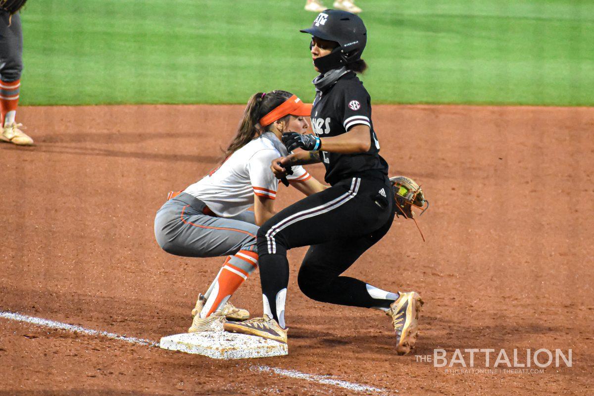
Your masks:
M162 349L195 353L213 359L253 359L289 354L286 344L255 335L207 331L169 335L159 343Z

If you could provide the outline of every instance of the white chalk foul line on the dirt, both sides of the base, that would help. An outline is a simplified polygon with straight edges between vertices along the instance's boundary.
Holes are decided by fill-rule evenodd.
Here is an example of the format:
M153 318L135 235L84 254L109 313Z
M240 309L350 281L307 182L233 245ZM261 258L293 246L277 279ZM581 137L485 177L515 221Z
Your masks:
M58 330L65 330L70 332L80 332L82 334L87 335L100 335L102 337L111 338L112 340L120 340L125 341L130 344L138 344L142 346L149 346L149 347L159 347L159 343L156 341L145 340L144 338L136 338L136 337L127 337L125 335L115 334L113 332L107 331L99 331L99 330L92 330L86 327L71 325L63 322L56 322L49 319L43 318L36 318L35 316L29 315L22 315L21 313L9 312L9 311L0 311L0 318L5 318L11 321L17 322L27 322L36 326L40 327L49 327ZM369 387L367 385L356 384L355 382L349 381L342 381L340 379L332 379L328 378L327 375L315 375L315 374L307 374L302 373L297 370L286 370L280 369L276 367L270 367L265 365L251 365L249 367L250 370L258 371L258 372L273 372L276 375L281 375L290 378L296 379L304 379L305 381L317 382L318 384L323 385L334 385L336 387L349 389L351 391L358 391L358 392L372 392L375 394L388 394L387 389L381 388L374 388ZM398 392L398 391L391 391L391 392Z

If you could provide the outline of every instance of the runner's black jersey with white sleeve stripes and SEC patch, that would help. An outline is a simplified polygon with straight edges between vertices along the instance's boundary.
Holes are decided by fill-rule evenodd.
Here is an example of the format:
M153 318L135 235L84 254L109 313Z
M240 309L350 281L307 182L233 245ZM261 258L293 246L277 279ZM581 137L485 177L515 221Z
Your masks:
M388 174L388 164L379 154L380 142L371 121L371 97L355 72L349 71L331 87L316 93L311 125L315 134L324 138L342 135L360 124L369 126L371 131L369 151L355 154L320 152L320 159L326 166L324 179L330 185L347 178L381 178Z

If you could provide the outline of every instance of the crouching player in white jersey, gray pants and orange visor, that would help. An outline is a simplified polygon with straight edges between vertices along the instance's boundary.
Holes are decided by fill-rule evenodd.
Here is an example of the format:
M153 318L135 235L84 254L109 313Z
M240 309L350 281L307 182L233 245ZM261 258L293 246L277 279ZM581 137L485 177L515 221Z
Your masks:
M274 216L278 179L272 160L286 156L283 132L306 132L311 105L286 91L251 97L225 160L157 211L154 232L166 252L187 257L228 256L207 292L198 295L189 332L222 329L222 321L244 320L245 309L229 297L258 266L258 227ZM305 195L326 187L301 166L287 181ZM254 207L254 211L248 208Z

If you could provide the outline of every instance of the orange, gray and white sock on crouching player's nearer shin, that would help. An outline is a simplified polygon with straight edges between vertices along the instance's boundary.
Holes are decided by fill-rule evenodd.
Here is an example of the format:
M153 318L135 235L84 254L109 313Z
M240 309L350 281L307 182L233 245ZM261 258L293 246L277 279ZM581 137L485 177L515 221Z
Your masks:
M213 282L213 288L207 296L206 304L201 318L207 318L229 300L229 297L248 278L249 274L258 267L258 254L250 251L239 251L233 256L228 256L221 268L219 275Z

